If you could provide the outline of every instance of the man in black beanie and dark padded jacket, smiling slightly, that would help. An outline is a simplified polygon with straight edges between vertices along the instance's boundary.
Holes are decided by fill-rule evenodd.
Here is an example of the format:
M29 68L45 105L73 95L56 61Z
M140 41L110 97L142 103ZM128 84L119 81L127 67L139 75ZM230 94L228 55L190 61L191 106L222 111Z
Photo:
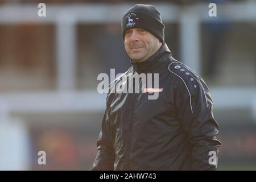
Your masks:
M131 7L122 18L122 38L132 65L124 74L158 73L161 90L149 100L140 82L133 85L139 93L108 94L92 170L216 169L213 101L204 80L171 56L159 11Z

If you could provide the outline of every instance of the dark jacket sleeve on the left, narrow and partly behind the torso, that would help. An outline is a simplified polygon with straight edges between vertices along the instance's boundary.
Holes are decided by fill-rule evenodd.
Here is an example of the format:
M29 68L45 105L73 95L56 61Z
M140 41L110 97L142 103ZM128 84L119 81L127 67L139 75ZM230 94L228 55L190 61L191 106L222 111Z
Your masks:
M92 171L110 171L114 168L114 150L109 125L108 106L101 123L101 131L97 140L97 155Z

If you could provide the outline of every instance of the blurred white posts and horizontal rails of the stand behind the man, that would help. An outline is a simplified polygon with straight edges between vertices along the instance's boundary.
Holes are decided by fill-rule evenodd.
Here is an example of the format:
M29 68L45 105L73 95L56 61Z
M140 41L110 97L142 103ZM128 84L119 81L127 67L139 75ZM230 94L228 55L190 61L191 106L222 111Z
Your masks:
M82 4L46 5L47 16L38 16L37 4L3 5L0 7L0 24L53 23L56 25L56 72L57 91L52 93L8 94L0 96L0 102L7 103L11 110L102 110L105 107L102 97L92 91L78 92L76 85L76 24L121 22L121 17L131 4ZM181 60L189 67L201 72L200 23L217 20L208 16L208 4L179 7L172 4L155 4L162 12L163 22L180 23ZM256 2L226 3L217 5L218 18L233 22L254 22ZM242 13L237 13L242 12ZM193 20L193 21L192 21ZM96 79L96 78L95 78ZM211 89L215 107L251 107L249 99L255 93L251 88ZM240 97L237 97L237 96ZM223 98L226 98L225 101ZM239 101L238 101L239 99ZM31 102L27 102L31 101ZM85 102L82 102L85 101ZM86 102L87 101L87 102ZM26 104L24 104L26 103ZM90 106L88 106L90 104Z

